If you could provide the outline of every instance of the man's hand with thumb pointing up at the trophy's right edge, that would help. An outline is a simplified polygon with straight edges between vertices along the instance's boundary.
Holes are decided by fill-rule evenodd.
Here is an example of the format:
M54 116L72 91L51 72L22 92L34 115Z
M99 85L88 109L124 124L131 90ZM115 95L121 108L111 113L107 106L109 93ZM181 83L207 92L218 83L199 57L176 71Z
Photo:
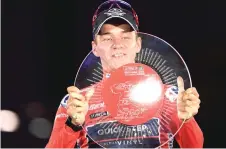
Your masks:
M199 94L195 87L184 90L184 81L181 77L177 78L178 99L177 112L181 120L188 120L198 113L200 107Z

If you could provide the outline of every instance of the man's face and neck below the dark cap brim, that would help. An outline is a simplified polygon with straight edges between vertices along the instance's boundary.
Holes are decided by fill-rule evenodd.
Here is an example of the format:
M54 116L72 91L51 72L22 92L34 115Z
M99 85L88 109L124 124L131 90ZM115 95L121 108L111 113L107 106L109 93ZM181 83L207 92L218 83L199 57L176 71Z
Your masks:
M104 24L92 42L92 48L94 55L100 57L103 69L110 72L135 62L136 53L141 49L141 39L128 24Z

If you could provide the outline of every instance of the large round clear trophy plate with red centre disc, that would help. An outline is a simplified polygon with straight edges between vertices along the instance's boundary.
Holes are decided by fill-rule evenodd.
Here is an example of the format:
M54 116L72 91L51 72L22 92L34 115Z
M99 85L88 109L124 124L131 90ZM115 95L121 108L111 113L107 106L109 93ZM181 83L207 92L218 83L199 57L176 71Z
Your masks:
M76 75L75 86L84 94L94 89L83 126L90 147L169 147L184 123L177 114L177 77L185 88L192 86L184 60L166 41L138 35L135 63L107 72L91 51Z

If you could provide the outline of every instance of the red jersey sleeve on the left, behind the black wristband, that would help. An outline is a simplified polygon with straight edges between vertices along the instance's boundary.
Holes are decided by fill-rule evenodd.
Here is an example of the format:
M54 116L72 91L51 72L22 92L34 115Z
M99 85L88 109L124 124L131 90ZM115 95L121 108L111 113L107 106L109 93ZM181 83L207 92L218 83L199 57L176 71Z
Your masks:
M53 129L46 148L74 148L76 141L80 137L81 131L75 132L66 124L68 120L67 100L68 95L62 99L56 112Z

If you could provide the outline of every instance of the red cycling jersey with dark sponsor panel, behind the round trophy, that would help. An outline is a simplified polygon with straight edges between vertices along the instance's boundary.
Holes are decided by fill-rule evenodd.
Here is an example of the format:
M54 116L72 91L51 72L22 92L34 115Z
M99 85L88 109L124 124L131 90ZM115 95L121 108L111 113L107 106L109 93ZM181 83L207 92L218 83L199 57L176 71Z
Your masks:
M87 88L88 89L88 88ZM175 104L175 97L177 95L175 87L167 86L164 102L165 104ZM96 92L96 91L95 91ZM97 94L97 93L96 93ZM98 92L98 94L100 94ZM46 148L100 148L100 142L104 147L110 148L153 148L159 145L162 148L173 148L173 134L180 128L182 121L178 119L176 110L169 116L169 125L162 125L167 119L154 117L146 123L137 126L120 125L117 121L112 121L106 118L98 123L98 120L108 115L103 100L94 95L89 101L89 111L87 113L85 128L78 132L72 130L71 127L66 125L68 115L66 112L66 95L57 110L53 130ZM167 110L167 109L166 109ZM101 124L108 124L114 127L100 127ZM165 122L166 123L166 122ZM115 135L119 131L124 131L120 135ZM132 133L136 132L142 136L142 140L138 137L132 137ZM93 132L95 141L87 135L87 132ZM133 133L134 135L134 133ZM127 136L127 137L126 137ZM130 137L131 136L131 137ZM127 139L125 139L127 138ZM171 139L170 139L171 138ZM194 118L191 118L183 124L181 129L174 137L181 148L202 148L203 147L203 133ZM170 140L169 140L170 139ZM169 140L169 141L167 141ZM167 142L167 143L164 143Z

